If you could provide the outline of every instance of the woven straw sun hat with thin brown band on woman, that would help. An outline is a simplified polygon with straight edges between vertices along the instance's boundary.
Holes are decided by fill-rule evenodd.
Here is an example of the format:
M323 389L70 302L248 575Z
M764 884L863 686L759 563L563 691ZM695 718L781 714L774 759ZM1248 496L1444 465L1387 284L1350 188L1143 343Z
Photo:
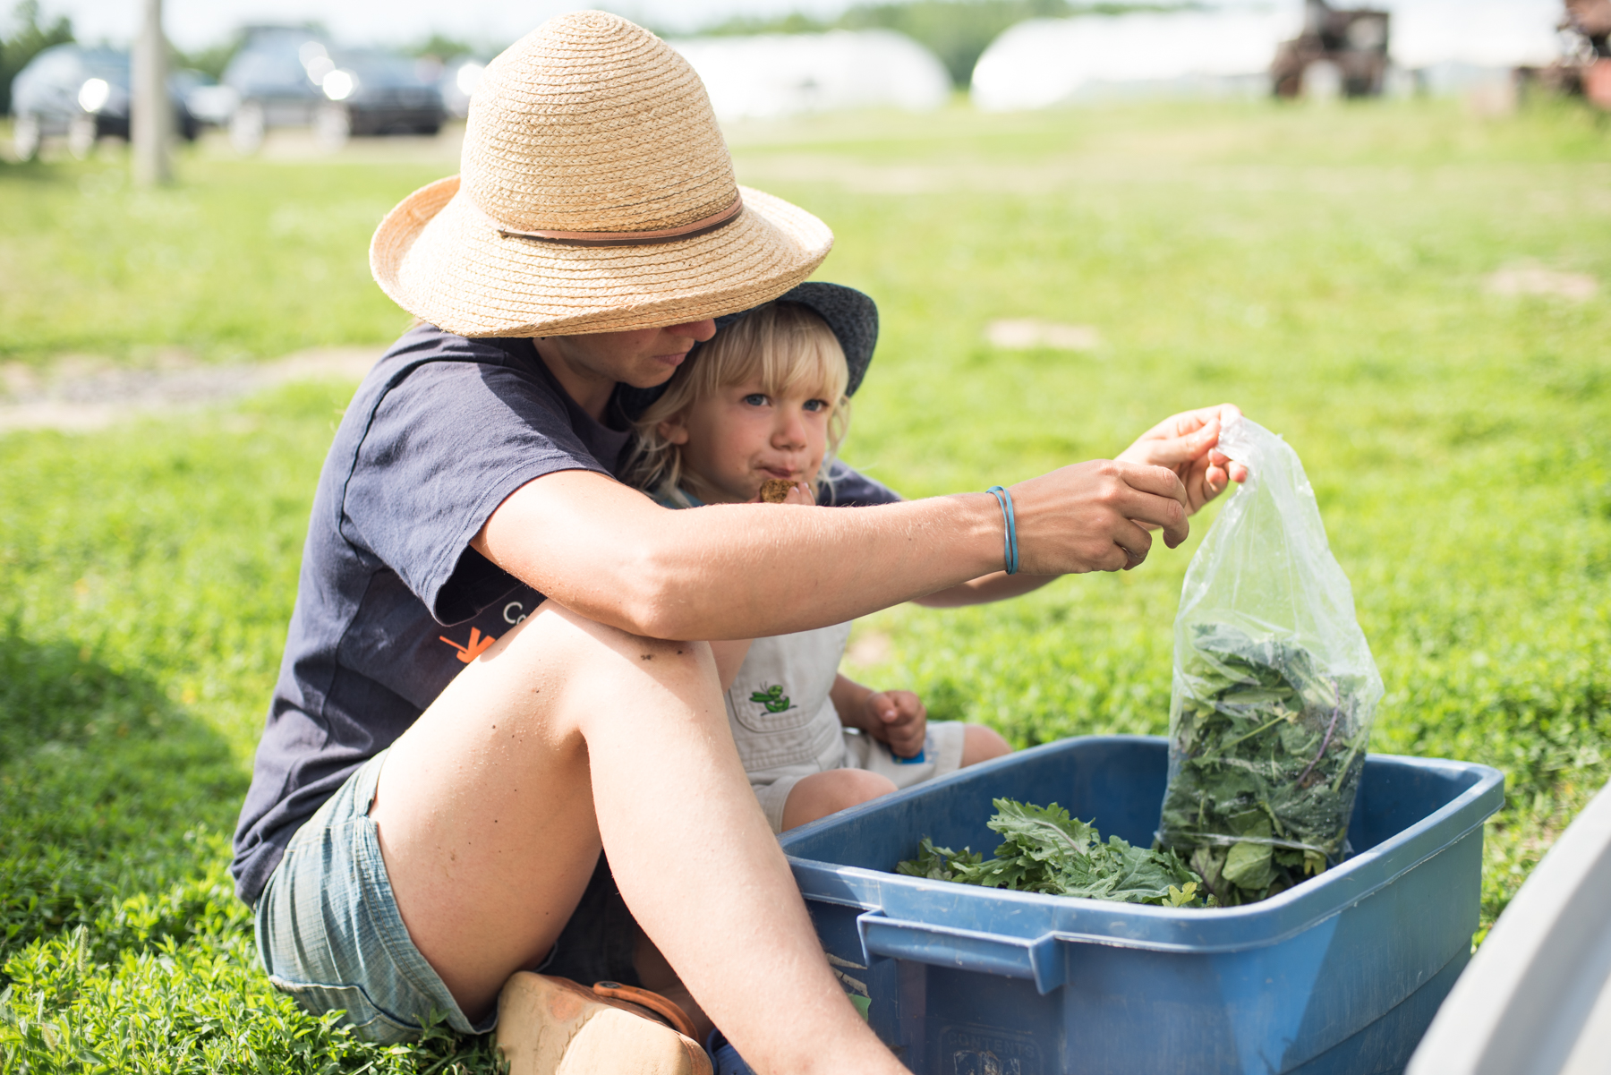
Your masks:
M833 232L739 187L699 76L654 34L577 11L482 76L461 174L404 198L369 266L459 335L570 335L701 321L789 290Z

